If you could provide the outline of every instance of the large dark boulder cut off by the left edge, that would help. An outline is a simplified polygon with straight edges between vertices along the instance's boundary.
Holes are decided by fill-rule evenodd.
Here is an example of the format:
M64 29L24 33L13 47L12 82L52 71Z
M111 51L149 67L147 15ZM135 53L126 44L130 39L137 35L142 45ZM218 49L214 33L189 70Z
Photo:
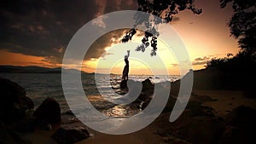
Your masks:
M26 110L34 104L26 97L26 90L9 79L0 78L0 119L12 123L24 117Z

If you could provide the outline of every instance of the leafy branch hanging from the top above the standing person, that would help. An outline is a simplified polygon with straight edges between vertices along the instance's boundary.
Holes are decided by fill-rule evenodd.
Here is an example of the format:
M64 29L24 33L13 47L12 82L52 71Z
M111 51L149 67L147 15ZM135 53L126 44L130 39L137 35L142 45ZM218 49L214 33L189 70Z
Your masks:
M157 37L159 32L156 29L160 23L169 23L173 20L173 15L178 14L179 11L189 9L194 14L201 14L201 9L196 9L194 0L137 0L138 11L143 11L147 14L154 14L158 18L152 20L148 15L137 13L135 15L135 27L138 25L146 26L147 31L142 39L142 45L137 47L137 51L145 51L149 46L153 48L151 50L151 56L156 55L157 50ZM134 32L135 31L135 32ZM122 39L122 43L126 43L131 40L132 36L136 33L135 29L131 29L127 32ZM149 39L150 43L149 43Z

